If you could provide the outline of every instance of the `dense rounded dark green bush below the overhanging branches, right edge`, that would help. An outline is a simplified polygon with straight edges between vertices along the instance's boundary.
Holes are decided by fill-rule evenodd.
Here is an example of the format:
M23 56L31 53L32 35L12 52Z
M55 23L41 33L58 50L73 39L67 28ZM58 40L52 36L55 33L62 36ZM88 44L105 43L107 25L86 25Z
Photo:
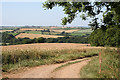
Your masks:
M92 46L120 46L120 27L109 27L106 30L100 28L93 31L89 37L89 43Z

